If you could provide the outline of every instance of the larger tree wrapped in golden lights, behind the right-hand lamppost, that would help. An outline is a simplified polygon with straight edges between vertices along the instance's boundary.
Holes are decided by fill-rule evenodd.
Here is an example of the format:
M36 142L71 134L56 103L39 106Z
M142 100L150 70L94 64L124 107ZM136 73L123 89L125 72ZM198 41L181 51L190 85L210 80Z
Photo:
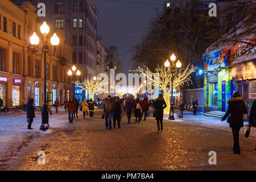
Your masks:
M157 65L155 73L151 72L148 67L139 67L137 71L143 73L148 80L149 84L152 84L155 88L158 88L164 92L164 99L166 102L166 109L164 113L169 114L170 110L170 84L172 80L173 72L173 88L178 88L178 86L184 86L188 84L190 80L190 74L196 71L196 67L193 65L190 67L190 64L185 69L178 69L174 67L165 68L164 66L160 67Z

